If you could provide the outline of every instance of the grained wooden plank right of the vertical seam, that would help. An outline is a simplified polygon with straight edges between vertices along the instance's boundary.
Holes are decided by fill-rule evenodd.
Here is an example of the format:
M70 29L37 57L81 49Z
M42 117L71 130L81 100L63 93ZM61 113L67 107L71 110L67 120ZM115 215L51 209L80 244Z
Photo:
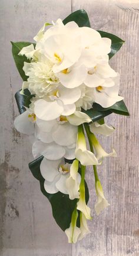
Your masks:
M105 196L110 207L100 216L93 213L92 233L84 241L72 245L72 256L125 256L139 255L138 215L138 1L73 0L73 11L84 8L92 28L111 32L125 40L125 45L111 60L112 67L121 75L121 94L130 117L112 114L107 120L116 128L111 137L102 138L107 151L114 147L117 158L105 159L99 168ZM90 206L95 203L94 178L87 172L90 186Z

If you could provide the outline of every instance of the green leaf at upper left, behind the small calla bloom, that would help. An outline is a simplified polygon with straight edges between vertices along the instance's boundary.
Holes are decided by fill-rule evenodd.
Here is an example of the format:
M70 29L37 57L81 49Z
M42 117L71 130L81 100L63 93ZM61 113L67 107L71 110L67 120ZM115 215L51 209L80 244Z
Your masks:
M27 81L27 76L25 76L24 70L22 69L24 66L24 61L29 63L30 60L27 59L27 57L19 56L18 53L22 50L23 47L27 47L30 44L33 44L32 42L11 42L12 44L12 55L14 57L16 68L19 71L20 76L22 77L23 81ZM34 44L35 46L35 44Z

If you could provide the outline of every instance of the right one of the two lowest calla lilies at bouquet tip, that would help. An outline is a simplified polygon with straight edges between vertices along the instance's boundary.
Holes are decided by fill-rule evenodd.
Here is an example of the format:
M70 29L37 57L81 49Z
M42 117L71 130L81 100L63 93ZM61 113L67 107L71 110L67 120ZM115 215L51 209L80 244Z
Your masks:
M81 234L78 240L81 240L86 235L91 233L87 226L87 219L85 218L85 215L82 214L82 212L80 212L80 231L81 231Z

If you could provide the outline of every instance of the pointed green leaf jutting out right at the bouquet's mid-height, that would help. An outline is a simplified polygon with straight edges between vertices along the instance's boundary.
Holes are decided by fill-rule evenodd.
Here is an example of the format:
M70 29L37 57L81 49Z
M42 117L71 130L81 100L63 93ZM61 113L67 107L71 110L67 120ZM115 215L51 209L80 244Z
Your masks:
M123 100L118 101L114 105L112 105L111 107L107 107L107 108L103 108L99 104L94 103L93 104L93 109L97 110L97 111L102 111L102 112L110 110L112 113L121 114L123 116L129 116L130 115Z

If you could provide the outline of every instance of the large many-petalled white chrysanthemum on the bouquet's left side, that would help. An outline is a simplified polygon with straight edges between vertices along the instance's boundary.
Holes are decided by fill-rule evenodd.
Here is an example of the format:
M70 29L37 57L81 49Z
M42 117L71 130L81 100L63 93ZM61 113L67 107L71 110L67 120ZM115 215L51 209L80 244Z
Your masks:
M57 88L59 80L52 71L53 64L47 58L42 62L24 63L23 70L28 76L24 88L28 88L31 94L38 97L46 96Z

